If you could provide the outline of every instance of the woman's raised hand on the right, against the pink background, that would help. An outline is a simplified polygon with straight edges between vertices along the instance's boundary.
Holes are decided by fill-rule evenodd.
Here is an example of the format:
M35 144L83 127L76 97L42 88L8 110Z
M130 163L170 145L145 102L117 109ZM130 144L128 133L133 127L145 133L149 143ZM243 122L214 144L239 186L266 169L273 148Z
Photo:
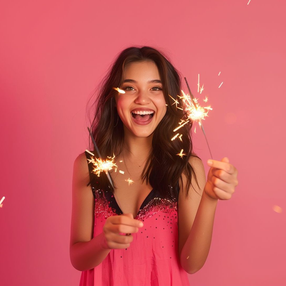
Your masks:
M229 163L228 158L221 161L208 160L212 164L208 171L208 178L204 187L204 193L210 198L219 200L229 200L238 185L237 169Z

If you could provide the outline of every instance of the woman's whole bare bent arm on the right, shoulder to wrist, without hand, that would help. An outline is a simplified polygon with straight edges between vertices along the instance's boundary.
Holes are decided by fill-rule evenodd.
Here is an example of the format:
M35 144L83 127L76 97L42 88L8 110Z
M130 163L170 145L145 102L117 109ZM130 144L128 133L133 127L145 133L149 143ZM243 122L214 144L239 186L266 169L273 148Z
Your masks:
M191 157L190 164L196 173L198 188L192 178L189 196L185 198L185 189L179 193L178 220L179 220L179 257L183 269L193 274L200 270L209 253L212 238L212 229L215 210L218 200L207 197L204 193L206 176L202 160ZM186 177L182 174L183 185L186 186ZM198 193L197 193L197 192Z

